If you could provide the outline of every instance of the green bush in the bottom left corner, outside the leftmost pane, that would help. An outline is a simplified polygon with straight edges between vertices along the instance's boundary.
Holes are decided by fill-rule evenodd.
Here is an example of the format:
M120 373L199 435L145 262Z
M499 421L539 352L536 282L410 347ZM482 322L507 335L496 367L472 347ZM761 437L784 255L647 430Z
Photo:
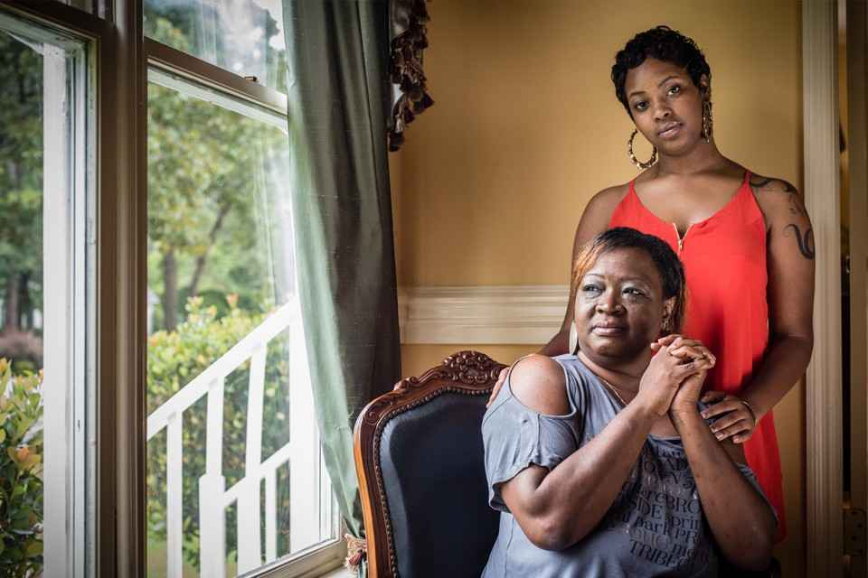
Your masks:
M0 359L0 575L42 571L42 372Z

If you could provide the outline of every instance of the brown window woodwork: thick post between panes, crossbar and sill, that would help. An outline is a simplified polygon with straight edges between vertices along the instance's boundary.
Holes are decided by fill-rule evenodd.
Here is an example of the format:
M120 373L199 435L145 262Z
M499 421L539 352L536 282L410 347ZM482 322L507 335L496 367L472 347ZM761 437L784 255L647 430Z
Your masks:
M146 576L147 70L153 67L280 115L287 97L191 54L146 38L144 0L94 0L90 11L61 0L6 0L0 9L88 42L95 74L92 126L96 239L90 384L94 471L88 576ZM323 474L325 475L325 473ZM72 539L70 539L72 543ZM308 578L343 562L338 537L245 574ZM72 574L71 574L72 575Z

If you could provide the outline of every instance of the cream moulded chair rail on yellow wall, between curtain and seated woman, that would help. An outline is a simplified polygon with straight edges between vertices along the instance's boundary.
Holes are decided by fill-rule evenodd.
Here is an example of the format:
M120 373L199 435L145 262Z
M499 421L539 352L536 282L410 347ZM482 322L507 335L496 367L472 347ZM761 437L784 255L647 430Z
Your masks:
M543 344L561 328L569 285L400 287L401 344Z

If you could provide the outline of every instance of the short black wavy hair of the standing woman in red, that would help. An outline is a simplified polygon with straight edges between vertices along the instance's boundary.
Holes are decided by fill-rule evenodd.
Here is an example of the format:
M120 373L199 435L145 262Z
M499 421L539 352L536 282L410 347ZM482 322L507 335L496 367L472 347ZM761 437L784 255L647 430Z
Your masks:
M633 113L630 112L627 94L624 91L627 71L635 69L648 57L684 67L684 70L687 70L687 74L693 80L693 85L697 88L699 88L699 79L703 77L703 74L706 75L709 82L712 80L712 69L705 61L703 51L699 50L693 39L668 26L657 26L644 33L638 33L630 42L627 42L622 50L618 51L618 54L615 55L615 64L612 65L615 96L624 105L630 118L633 117Z

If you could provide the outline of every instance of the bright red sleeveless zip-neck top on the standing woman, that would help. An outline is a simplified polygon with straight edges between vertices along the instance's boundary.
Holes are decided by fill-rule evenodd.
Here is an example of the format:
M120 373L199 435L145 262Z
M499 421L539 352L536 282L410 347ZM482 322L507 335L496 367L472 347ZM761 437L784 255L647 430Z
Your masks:
M633 182L618 203L609 227L636 228L664 239L678 253L687 277L684 335L702 340L717 357L706 387L738 395L760 367L769 343L766 300L766 225L750 172L739 191L708 219L693 223L678 238L673 223L658 218L639 200ZM772 412L764 415L744 443L748 465L777 510L778 540L786 536L778 435Z

